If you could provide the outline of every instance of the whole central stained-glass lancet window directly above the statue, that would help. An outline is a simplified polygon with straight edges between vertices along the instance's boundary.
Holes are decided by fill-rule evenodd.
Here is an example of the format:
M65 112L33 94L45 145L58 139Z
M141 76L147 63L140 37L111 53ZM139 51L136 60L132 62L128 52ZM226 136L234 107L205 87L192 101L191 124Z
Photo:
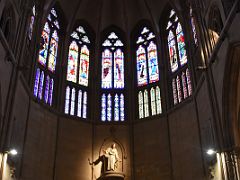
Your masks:
M101 57L101 120L124 121L124 47L115 32L102 43Z

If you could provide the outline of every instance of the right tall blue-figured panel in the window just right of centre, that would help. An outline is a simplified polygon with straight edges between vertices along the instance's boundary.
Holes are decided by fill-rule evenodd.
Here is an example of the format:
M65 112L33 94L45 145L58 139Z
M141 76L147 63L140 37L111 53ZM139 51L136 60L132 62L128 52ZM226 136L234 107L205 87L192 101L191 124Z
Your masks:
M150 83L157 82L159 80L157 46L152 41L148 46L148 69Z

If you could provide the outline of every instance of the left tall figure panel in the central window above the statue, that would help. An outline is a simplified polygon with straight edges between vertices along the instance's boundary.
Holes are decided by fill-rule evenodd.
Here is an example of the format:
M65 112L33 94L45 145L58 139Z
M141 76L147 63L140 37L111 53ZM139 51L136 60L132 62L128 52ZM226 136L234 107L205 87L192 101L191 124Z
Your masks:
M102 88L112 88L112 53L108 49L102 53Z

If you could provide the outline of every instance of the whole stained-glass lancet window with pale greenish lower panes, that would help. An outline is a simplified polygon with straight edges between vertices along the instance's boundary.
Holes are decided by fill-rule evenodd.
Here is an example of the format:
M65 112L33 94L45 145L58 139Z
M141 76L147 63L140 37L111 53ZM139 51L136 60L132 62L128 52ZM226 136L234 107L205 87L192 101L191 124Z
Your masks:
M140 29L135 41L139 118L162 113L158 52L154 33Z

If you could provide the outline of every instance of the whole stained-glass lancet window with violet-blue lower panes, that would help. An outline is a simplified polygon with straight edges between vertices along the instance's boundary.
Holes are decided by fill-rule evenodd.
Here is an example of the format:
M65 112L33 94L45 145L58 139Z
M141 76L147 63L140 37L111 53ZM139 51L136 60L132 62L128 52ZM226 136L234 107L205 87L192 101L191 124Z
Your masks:
M34 82L34 96L50 106L55 92L59 29L58 14L52 8L41 33Z

